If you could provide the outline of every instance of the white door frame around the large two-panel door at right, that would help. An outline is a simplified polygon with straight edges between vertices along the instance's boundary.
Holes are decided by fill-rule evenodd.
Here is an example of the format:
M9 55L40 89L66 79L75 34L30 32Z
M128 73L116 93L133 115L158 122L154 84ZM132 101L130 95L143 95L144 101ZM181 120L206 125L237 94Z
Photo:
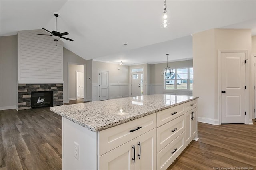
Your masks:
M245 53L245 60L246 60L246 65L245 65L245 85L246 85L246 91L245 91L245 124L251 124L252 123L252 111L249 109L249 65L250 65L250 60L248 60L248 50L218 50L218 125L221 125L221 53ZM251 123L250 123L251 122Z

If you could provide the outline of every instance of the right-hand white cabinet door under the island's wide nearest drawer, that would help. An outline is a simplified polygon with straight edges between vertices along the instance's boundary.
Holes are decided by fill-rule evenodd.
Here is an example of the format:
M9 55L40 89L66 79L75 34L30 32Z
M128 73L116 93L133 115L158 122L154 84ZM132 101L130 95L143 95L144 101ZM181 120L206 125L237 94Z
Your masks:
M135 139L136 148L136 170L156 169L156 128L138 136Z

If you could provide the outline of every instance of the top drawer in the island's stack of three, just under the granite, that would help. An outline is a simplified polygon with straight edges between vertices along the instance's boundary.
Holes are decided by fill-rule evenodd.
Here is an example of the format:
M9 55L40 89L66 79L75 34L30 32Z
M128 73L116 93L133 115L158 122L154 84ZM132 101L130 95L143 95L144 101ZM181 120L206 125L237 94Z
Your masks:
M167 123L184 113L184 104L159 111L157 113L157 127L164 125L164 123Z

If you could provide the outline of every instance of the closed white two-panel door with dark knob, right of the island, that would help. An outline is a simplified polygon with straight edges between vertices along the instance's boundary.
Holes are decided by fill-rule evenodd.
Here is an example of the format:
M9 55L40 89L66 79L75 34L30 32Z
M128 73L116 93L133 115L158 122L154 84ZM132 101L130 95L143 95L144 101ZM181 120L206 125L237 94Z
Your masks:
M245 123L245 53L221 53L221 123Z

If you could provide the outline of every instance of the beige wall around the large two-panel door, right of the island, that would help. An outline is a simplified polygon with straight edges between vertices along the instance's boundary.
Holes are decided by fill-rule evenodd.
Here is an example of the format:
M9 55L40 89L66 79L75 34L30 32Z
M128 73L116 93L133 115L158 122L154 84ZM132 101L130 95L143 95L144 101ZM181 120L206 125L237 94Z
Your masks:
M218 121L218 50L248 50L250 56L250 30L212 29L193 34L193 95L199 96L198 121L212 124L220 123ZM250 66L250 63L248 65Z

